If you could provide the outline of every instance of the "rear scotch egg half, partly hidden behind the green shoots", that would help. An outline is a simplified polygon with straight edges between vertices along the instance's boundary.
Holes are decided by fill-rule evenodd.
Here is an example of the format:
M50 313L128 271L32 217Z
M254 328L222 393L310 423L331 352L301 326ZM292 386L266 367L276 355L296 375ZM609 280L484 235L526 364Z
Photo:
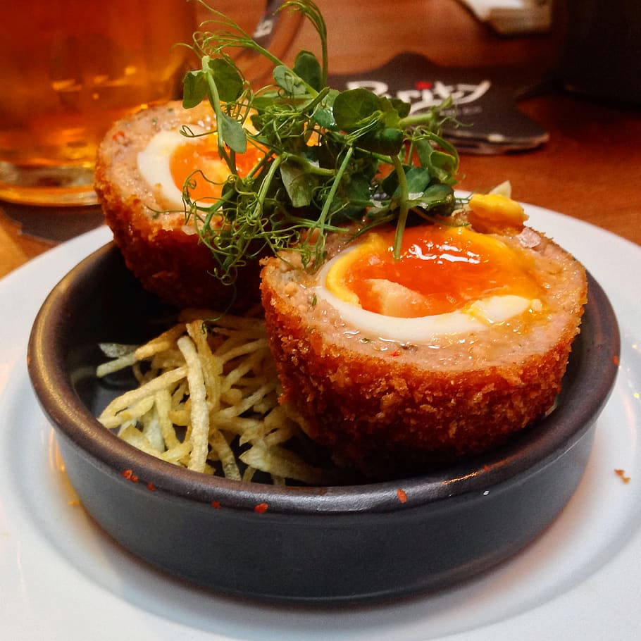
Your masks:
M127 267L147 290L176 306L225 309L232 302L242 310L259 301L257 261L242 268L242 287L221 282L213 275L219 265L186 222L182 201L189 179L190 198L213 204L230 175L218 157L216 134L204 135L215 123L208 104L184 109L179 101L119 120L99 147L95 189ZM189 136L181 132L185 126ZM261 156L251 146L237 154L239 173L248 173Z

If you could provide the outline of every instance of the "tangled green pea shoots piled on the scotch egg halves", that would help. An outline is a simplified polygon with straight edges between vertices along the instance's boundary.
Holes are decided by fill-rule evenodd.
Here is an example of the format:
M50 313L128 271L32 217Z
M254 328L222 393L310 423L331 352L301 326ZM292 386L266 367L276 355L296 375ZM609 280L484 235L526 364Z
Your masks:
M211 205L191 199L192 177L183 198L187 221L216 257L220 278L233 282L239 267L266 250L297 251L305 268L318 268L328 234L355 237L390 223L399 258L406 225L452 216L461 204L453 189L459 156L440 136L449 103L411 114L399 99L328 87L327 32L312 0L291 0L279 9L302 13L321 41L320 61L300 51L291 68L208 8L211 19L192 43L201 68L185 77L183 106L209 100L230 177ZM273 84L252 88L233 49L267 58ZM239 175L236 155L249 145L262 157Z

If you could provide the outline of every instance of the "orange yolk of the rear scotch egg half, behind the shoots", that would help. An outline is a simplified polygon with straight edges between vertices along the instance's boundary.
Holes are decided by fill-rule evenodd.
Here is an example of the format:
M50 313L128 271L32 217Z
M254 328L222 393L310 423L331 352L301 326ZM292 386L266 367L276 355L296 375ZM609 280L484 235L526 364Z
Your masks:
M262 156L259 149L251 146L244 154L236 154L238 175L246 176ZM230 175L227 163L218 156L218 142L213 134L203 136L198 142L185 142L176 147L170 156L169 168L175 186L181 191L187 178L195 183L189 188L192 200L218 200L223 183Z

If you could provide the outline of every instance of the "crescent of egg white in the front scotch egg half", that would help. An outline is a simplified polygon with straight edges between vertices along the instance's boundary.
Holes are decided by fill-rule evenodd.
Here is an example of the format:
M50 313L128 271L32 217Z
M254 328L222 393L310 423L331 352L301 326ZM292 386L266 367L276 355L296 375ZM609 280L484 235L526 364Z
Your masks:
M540 306L537 299L506 294L478 299L463 309L434 316L384 316L343 301L326 287L325 282L332 264L345 256L347 251L335 256L318 273L316 297L335 308L346 323L371 337L399 342L429 343L440 336L483 332L497 323L504 323L528 309L537 309Z

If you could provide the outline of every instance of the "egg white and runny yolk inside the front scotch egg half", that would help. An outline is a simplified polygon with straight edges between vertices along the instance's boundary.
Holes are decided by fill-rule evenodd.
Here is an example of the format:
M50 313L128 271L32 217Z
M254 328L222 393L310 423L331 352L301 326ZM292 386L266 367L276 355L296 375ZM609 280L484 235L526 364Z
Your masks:
M370 232L318 275L316 295L363 332L403 342L483 331L539 311L540 285L524 254L466 227L420 225Z

